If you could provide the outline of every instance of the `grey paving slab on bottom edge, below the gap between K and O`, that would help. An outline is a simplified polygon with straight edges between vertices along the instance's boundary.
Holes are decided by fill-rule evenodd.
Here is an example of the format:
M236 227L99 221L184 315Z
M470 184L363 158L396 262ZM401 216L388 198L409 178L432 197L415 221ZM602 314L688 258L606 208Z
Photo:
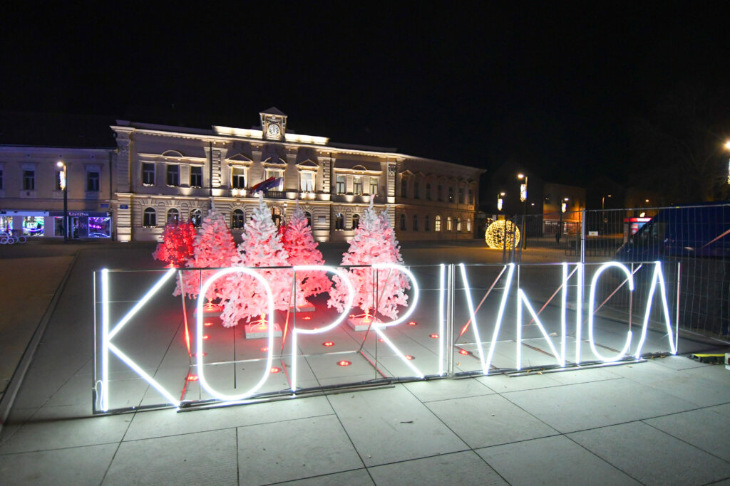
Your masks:
M104 485L237 483L236 429L123 442Z

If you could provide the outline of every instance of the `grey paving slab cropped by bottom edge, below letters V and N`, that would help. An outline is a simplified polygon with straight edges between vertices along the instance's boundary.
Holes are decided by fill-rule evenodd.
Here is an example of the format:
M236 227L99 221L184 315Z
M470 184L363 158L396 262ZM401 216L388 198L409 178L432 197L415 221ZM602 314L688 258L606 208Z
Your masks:
M476 451L512 485L635 485L631 477L565 436Z

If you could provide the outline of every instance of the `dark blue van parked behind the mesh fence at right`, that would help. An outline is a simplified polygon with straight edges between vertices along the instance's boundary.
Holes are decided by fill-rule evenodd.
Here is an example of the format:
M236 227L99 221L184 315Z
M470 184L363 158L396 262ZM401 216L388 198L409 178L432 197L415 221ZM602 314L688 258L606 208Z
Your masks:
M663 209L616 251L623 262L680 256L730 257L730 203Z

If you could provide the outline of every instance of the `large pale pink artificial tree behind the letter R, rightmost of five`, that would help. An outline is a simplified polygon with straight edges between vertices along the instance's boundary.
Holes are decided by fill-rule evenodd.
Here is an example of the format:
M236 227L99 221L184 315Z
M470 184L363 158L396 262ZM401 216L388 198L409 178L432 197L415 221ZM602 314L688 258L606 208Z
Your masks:
M403 263L396 233L388 222L388 214L385 211L378 214L372 204L371 197L369 208L363 212L360 226L355 230L354 238L350 240L350 248L342 256L343 265ZM377 302L378 314L396 318L398 306L407 305L408 296L405 289L410 289L410 283L404 274L388 269L376 272L372 268L353 268L347 270L347 273L356 292L353 305L360 307L364 313L367 314L369 310L374 309ZM332 280L334 286L329 292L330 299L327 305L343 312L346 310L344 307L347 288L337 276Z

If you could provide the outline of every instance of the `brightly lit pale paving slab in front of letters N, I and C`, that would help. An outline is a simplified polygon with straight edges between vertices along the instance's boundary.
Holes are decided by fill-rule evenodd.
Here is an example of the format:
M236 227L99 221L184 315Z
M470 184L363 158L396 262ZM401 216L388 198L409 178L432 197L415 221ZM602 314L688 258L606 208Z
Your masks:
M563 433L652 418L696 408L631 380L604 380L531 391L504 397Z

